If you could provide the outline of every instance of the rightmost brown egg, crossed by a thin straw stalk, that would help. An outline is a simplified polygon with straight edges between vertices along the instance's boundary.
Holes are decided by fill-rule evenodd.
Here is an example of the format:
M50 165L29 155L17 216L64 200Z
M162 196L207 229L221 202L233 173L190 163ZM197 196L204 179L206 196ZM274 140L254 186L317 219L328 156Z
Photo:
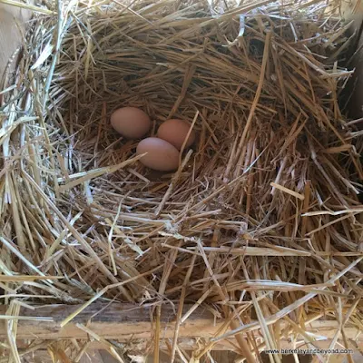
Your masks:
M159 127L157 137L166 142L170 142L178 150L182 149L182 144L187 137L191 125L183 120L172 119L167 120ZM188 148L195 141L195 132L191 130L185 147Z

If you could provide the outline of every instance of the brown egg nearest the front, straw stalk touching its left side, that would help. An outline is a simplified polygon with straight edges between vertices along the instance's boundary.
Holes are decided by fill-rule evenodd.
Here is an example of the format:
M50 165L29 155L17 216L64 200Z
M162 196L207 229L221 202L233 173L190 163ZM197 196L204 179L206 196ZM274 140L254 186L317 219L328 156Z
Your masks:
M171 172L179 166L179 152L171 143L157 137L143 139L136 148L136 154L142 156L143 165L160 172Z

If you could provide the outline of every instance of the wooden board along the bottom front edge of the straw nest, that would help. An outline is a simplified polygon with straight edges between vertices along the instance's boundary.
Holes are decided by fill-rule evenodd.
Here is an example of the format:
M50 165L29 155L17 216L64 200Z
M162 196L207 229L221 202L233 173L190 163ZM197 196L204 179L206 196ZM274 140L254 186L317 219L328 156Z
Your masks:
M93 303L77 315L72 321L61 328L61 322L72 312L78 309L77 305L48 305L37 309L21 309L22 317L52 318L52 321L18 320L18 339L69 339L88 338L87 333L77 327L77 324L86 325L94 333L103 338L113 338L118 341L132 339L150 339L153 336L151 306L137 304L105 304ZM186 305L186 312L190 309ZM165 305L162 308L162 338L172 338L175 328L175 312L177 306ZM0 307L0 314L5 314L5 307ZM210 310L200 307L191 314L190 318L182 324L180 338L213 338L219 335L223 319L214 319ZM281 323L281 329L284 327ZM308 325L309 333L318 334L326 338L333 338L338 328L335 320L313 321ZM345 333L348 339L363 342L363 335L355 326L346 325ZM0 321L0 338L6 338L5 320ZM227 342L223 342L226 344Z

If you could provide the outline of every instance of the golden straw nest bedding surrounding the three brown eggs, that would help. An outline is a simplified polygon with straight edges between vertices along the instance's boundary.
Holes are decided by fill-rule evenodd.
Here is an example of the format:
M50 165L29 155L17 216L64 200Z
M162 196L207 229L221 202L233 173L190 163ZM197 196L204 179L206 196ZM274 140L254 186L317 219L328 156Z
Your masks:
M225 319L217 338L260 329L251 350L274 348L279 319L307 342L312 319L359 324L362 141L338 103L354 36L327 5L269 3L34 8L1 94L9 314L113 299L157 321L198 301ZM124 105L151 133L192 123L177 172L145 169L113 132Z

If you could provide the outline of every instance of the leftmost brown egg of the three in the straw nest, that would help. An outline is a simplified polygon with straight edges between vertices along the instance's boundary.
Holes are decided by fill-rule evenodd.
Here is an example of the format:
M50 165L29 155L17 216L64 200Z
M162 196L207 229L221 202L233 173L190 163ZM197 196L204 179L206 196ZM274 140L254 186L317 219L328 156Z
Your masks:
M117 109L111 115L111 124L127 139L140 139L152 126L150 117L136 107Z

